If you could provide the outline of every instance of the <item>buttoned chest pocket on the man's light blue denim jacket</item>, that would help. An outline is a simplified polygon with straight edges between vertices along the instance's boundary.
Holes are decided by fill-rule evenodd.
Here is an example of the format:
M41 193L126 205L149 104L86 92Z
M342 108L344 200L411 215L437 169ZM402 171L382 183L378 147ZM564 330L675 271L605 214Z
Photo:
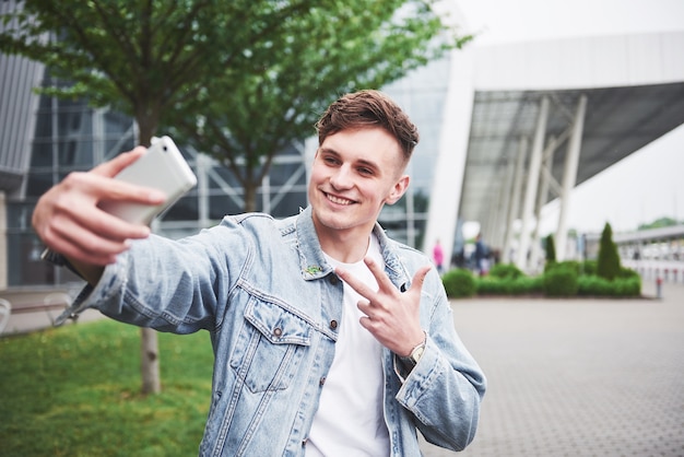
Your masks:
M231 367L252 392L282 390L290 386L311 327L278 304L251 297L245 323L231 356Z

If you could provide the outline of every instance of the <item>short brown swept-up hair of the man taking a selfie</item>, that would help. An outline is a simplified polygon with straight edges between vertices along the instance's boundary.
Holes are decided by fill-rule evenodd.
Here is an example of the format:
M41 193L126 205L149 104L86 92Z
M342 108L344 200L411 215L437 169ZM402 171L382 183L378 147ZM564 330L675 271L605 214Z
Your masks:
M318 144L342 130L381 127L397 139L405 162L418 143L418 129L390 97L365 90L346 94L326 109L316 122Z

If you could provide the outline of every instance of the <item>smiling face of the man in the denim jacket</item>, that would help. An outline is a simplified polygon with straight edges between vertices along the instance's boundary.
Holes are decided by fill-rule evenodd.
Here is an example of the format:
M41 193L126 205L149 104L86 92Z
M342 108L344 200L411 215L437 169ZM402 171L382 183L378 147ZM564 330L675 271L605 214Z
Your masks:
M344 130L318 148L308 195L319 237L368 236L385 203L409 185L397 140L381 128Z

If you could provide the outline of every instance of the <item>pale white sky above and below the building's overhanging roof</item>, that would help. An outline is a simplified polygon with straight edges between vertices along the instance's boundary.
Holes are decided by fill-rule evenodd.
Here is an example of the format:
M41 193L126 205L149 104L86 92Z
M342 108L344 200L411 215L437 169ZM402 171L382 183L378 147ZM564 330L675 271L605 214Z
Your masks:
M457 0L473 46L573 36L684 31L684 0ZM684 49L682 49L684 56ZM618 192L614 189L621 189ZM684 220L684 125L647 144L573 191L568 227L635 231L660 218ZM555 230L557 206L543 212Z

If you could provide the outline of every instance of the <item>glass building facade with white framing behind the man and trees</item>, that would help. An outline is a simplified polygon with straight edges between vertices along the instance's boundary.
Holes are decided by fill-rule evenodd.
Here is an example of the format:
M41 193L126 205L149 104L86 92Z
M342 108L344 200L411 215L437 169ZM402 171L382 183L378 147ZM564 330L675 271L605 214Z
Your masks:
M417 125L421 141L409 164L409 192L386 207L380 223L393 238L421 248L427 220L433 169L438 155L443 110L448 83L447 59L414 71L385 89ZM3 80L7 87L14 80ZM49 72L43 84L52 85ZM39 96L31 133L30 166L19 190L8 194L7 285L58 285L80 281L66 269L40 259L43 245L31 226L37 199L71 172L93 166L131 150L137 144L133 120L108 109L95 109L85 101ZM311 148L307 141L306 144ZM214 225L225 214L243 211L243 189L237 178L215 160L179 145L198 176L198 186L153 223L153 231L178 238ZM307 165L311 157L305 143L293 144L273 161L258 190L257 210L284 218L307 204Z

